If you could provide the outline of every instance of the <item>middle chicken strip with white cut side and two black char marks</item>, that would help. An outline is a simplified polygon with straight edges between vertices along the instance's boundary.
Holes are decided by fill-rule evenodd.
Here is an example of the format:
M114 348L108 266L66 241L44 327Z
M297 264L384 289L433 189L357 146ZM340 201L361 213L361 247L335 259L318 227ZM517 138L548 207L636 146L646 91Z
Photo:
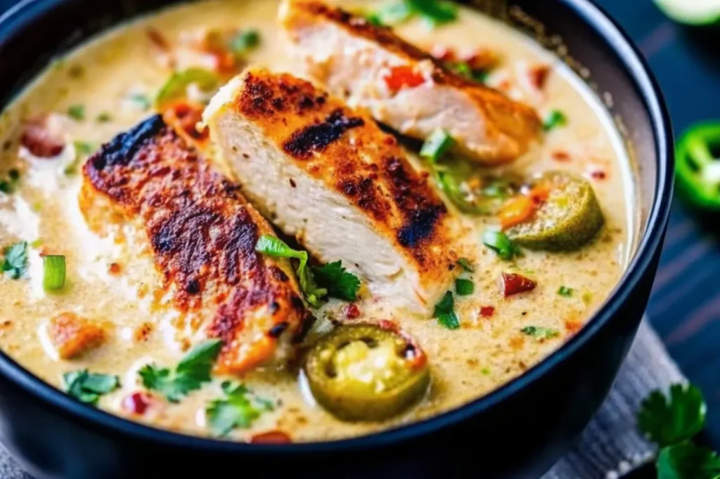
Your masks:
M427 313L453 278L462 226L397 140L289 74L251 68L205 109L243 193L323 262L374 296Z

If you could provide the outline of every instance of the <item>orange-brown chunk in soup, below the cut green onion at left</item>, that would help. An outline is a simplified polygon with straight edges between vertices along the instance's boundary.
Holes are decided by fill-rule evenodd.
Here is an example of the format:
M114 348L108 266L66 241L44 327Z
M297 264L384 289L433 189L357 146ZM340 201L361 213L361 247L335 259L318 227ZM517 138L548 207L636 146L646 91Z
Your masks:
M71 359L102 345L105 331L74 313L50 319L48 337L62 359Z

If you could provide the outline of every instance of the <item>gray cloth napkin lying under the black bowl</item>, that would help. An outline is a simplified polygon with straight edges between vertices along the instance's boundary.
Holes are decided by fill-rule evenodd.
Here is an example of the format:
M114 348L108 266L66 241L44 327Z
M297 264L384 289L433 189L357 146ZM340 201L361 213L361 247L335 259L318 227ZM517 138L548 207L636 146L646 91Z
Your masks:
M635 411L656 388L684 381L657 334L643 321L618 380L575 447L542 479L617 479L654 453L635 429ZM0 479L32 479L0 450Z

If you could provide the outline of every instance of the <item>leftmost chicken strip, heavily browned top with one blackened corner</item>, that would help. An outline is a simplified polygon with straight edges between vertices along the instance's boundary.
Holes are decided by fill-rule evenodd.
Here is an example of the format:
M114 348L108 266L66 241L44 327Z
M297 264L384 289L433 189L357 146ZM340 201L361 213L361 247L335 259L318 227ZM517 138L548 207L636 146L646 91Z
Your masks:
M219 372L279 365L292 354L308 314L287 260L255 251L270 225L161 117L104 145L83 174L91 228L127 222L144 232L171 307L199 314L199 330L223 340Z

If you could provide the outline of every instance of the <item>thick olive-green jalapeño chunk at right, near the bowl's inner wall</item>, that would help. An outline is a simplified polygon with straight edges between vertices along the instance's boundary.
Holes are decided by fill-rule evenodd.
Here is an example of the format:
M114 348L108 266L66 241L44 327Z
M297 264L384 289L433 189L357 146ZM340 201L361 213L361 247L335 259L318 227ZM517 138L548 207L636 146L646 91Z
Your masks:
M501 212L500 222L513 224L505 233L518 245L531 250L577 250L603 227L605 219L588 181L552 171L537 179L533 191L538 188L546 189L546 198L526 196L523 208L513 206L512 222L503 220ZM535 211L531 214L532 205Z

